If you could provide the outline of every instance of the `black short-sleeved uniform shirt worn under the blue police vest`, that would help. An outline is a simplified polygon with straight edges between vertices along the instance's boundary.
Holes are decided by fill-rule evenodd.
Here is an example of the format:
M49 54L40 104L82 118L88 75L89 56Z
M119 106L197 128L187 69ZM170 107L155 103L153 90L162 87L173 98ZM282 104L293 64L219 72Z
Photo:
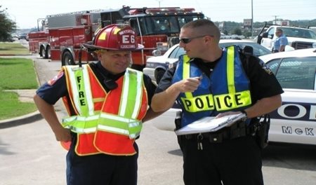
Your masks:
M258 59L258 57L250 56L247 65L245 55L240 54L240 59L242 60L244 70L250 81L251 102L256 103L264 97L272 97L283 93L277 78L275 78L275 75L272 74L272 71L262 60ZM199 69L201 69L206 76L209 76L219 60L220 58L214 62L203 62L201 59L194 58L191 62L197 64ZM172 84L171 81L175 70L176 67L173 67L166 71L155 93L160 93L169 88Z

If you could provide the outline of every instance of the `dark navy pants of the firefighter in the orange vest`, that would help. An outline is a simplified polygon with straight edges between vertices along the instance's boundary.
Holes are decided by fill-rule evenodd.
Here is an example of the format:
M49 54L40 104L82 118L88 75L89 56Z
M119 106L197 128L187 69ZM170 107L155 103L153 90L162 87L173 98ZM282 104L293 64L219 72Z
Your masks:
M134 143L138 152L138 146ZM67 185L136 185L138 153L133 156L67 153Z

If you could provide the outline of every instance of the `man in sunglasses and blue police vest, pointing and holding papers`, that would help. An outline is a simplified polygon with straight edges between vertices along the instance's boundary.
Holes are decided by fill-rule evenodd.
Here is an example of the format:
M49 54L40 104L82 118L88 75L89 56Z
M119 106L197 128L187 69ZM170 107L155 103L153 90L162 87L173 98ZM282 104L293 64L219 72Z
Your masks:
M186 185L260 185L261 148L251 125L281 105L283 90L261 60L239 53L236 46L222 49L219 40L220 31L210 20L181 28L186 55L162 77L152 110L166 111L176 100L182 109L180 127L205 116L246 114L246 121L218 132L180 137L183 179Z

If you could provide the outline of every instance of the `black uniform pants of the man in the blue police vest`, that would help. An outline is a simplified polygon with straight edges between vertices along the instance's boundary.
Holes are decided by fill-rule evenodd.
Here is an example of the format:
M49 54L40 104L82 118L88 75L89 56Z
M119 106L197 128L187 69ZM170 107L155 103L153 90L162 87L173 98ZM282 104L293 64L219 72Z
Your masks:
M185 185L262 185L261 149L255 137L244 136L213 143L182 137Z

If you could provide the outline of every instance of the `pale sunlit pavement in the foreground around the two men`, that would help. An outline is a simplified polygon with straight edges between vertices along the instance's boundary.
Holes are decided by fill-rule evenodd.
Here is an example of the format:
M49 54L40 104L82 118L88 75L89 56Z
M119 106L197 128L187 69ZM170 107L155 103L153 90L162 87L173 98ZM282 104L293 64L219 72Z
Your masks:
M31 57L40 83L53 78L60 69L60 62ZM56 104L56 111L60 118L66 114L61 102ZM159 130L148 122L137 143L138 184L183 184L182 154L173 132ZM65 184L65 155L43 119L0 129L0 185ZM263 176L268 185L315 184L316 146L268 146L263 151Z

